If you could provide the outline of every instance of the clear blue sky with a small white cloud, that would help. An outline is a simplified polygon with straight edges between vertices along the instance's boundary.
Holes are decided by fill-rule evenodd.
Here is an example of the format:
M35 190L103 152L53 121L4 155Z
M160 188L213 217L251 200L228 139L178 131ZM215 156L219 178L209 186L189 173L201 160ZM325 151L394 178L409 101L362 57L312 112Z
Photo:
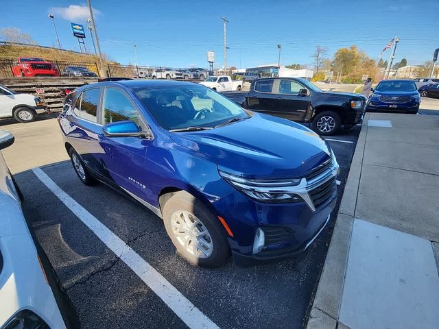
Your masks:
M431 60L439 47L439 1L142 1L92 0L97 10L101 47L112 60L166 66L207 66L206 51L215 51L215 67L224 63L223 25L228 24L228 66L311 63L316 45L331 56L340 47L358 45L372 58L395 36L396 61ZM54 13L63 48L78 50L70 22L84 22L86 1L4 1L0 28L19 27L40 45L56 45L47 14ZM64 17L64 18L63 18ZM86 45L91 51L87 31ZM383 56L388 59L389 51Z

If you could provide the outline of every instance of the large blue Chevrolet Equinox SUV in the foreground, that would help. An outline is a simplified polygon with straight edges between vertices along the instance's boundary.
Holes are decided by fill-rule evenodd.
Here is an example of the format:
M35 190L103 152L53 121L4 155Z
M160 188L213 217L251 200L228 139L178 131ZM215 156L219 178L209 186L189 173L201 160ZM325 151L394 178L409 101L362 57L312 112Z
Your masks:
M80 180L152 210L193 264L305 250L335 207L339 165L327 142L199 84L90 84L67 97L58 121Z

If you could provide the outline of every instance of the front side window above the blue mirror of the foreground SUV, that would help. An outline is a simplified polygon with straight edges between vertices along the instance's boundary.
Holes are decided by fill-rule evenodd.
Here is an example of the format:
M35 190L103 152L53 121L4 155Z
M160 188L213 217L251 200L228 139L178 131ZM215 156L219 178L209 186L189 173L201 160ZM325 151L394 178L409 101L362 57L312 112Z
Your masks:
M102 108L104 108L104 124L126 120L139 124L139 112L121 90L106 88Z

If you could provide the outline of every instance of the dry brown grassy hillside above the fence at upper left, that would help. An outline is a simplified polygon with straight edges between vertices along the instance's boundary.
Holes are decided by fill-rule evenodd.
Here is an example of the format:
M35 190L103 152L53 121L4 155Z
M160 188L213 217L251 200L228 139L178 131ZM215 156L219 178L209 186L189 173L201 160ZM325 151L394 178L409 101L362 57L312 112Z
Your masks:
M75 53L73 51L60 50L46 47L33 47L22 45L0 45L0 60L16 59L19 57L39 57L47 60L65 60L69 62L99 62L99 57ZM105 64L118 64L112 60L104 60Z

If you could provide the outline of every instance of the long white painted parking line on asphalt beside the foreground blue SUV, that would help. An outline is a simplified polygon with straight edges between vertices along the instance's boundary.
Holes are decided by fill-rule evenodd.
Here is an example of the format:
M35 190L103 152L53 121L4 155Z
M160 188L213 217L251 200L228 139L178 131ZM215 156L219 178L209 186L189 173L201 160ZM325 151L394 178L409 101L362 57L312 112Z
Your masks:
M36 177L49 188L67 208L73 212L94 234L111 249L123 263L126 263L134 273L147 284L158 297L182 319L189 328L219 328L196 308L187 298L170 284L158 271L154 269L139 254L134 252L119 236L111 232L96 217L70 197L55 184L40 168L32 169Z

